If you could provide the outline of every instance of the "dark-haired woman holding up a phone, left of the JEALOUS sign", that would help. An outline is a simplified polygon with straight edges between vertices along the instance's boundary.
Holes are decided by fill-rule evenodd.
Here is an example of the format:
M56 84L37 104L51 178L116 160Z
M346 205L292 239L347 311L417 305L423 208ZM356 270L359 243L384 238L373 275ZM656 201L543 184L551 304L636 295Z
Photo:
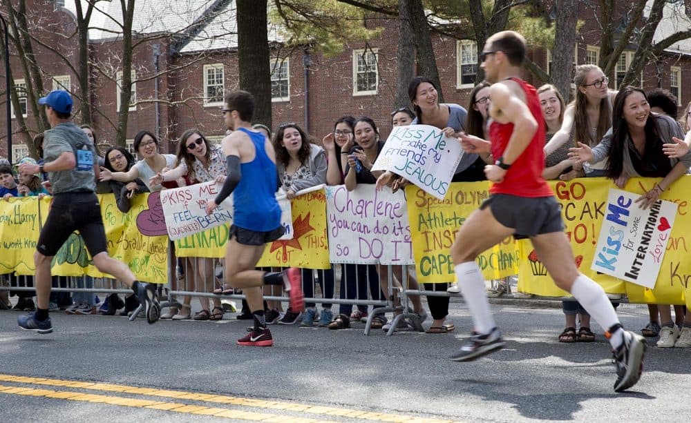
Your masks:
M381 171L371 171L381 149L384 148L384 141L379 140L379 130L377 124L370 117L360 117L356 119L353 126L355 136L355 146L350 149L348 155L348 167L345 168L345 189L352 191L358 184L375 184ZM386 297L381 293L379 287L379 275L374 265L367 266L367 279L372 299L379 300ZM359 272L358 272L359 273ZM360 282L360 281L358 281ZM359 290L363 291L363 290ZM362 292L360 292L363 294ZM375 306L379 308L379 306ZM351 315L352 317L352 315ZM363 316L361 316L362 318ZM386 324L384 315L377 315L372 319L371 328L381 329Z

